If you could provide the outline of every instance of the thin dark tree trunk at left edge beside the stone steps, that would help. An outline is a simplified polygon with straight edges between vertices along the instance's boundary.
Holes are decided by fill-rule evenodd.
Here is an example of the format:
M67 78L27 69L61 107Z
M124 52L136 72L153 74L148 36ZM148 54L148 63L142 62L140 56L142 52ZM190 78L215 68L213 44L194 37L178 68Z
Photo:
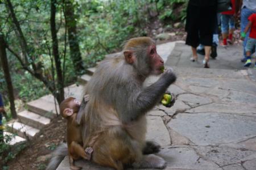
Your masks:
M10 101L10 109L11 109L11 116L13 118L17 118L17 113L15 110L15 103L14 103L14 93L13 93L13 83L11 83L11 76L9 71L9 65L6 56L6 44L5 40L3 39L3 35L0 34L0 59L2 63L3 73L5 74L5 80L9 95Z

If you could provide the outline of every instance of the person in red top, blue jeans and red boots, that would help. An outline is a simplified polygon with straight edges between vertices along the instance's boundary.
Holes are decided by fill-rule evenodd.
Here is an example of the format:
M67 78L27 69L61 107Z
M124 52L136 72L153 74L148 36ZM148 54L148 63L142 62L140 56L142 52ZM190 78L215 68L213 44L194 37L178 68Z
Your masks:
M233 44L233 32L235 29L235 4L236 0L232 0L232 10L221 12L221 33L222 33L222 46L227 46L229 42Z

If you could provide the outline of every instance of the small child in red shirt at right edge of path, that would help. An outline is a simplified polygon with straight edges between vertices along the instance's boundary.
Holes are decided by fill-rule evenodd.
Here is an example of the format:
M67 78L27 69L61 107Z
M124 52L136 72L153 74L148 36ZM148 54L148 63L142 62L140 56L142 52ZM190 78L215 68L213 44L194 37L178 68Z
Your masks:
M251 50L255 48L256 45L256 13L251 14L248 20L249 23L246 25L245 31L241 33L241 37L242 39L244 39L246 37L247 31L249 31L249 29L251 28L249 38L245 46L246 62L245 65L243 65L245 67L249 67L251 65Z

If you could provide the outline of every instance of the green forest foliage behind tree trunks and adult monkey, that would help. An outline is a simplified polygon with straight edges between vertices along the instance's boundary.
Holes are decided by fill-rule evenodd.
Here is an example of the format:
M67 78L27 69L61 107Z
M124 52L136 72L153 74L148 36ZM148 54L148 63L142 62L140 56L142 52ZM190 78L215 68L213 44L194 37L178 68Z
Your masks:
M50 1L13 0L16 17L26 37L31 56L36 56L35 63L42 62L46 74L54 73L52 69L52 39L49 25ZM69 46L65 44L65 22L63 15L64 1L57 1L56 27L59 38L61 62L64 61L65 45L65 84L75 82L76 73L69 56ZM154 19L171 25L176 20L185 19L187 0L73 0L77 21L79 45L85 67L92 67L101 61L105 54L118 52L125 40L136 36L147 36ZM18 38L15 35L13 21L5 3L0 3L0 32L15 52L21 53ZM67 38L67 37L66 37ZM10 71L15 89L15 98L30 101L49 94L42 82L24 71L22 66L7 52ZM53 66L54 66L53 62ZM49 77L50 79L51 77ZM7 101L7 87L3 72L0 71L0 92Z

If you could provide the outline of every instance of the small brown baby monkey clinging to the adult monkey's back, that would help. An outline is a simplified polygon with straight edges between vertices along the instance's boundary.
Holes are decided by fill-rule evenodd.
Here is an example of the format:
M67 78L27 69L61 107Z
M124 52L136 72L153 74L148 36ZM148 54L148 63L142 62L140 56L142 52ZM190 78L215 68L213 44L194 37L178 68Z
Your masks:
M84 96L84 101L87 103L89 95ZM77 113L79 112L80 101L74 97L68 97L63 100L60 104L60 114L64 118L67 118L67 143L68 143L68 154L69 164L72 170L79 170L81 167L77 167L74 164L74 160L84 158L90 160L92 158L92 147L82 147L82 137L80 133L80 126L76 121Z

